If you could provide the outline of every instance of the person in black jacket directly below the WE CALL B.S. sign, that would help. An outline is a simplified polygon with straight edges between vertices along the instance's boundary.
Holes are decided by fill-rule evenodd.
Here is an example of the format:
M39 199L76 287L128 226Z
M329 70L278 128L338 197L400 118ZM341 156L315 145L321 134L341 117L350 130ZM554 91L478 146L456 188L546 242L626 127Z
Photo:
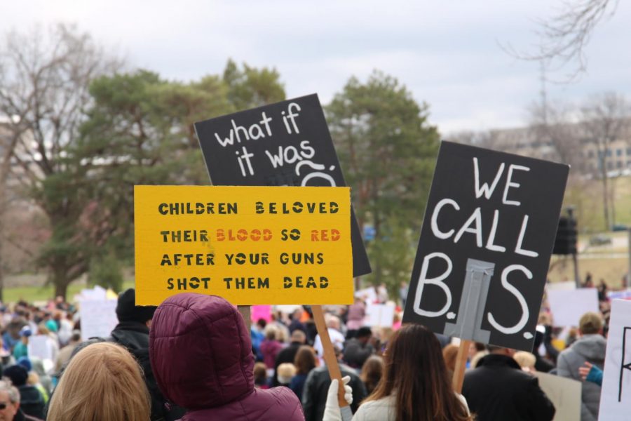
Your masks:
M555 407L537 377L524 373L514 349L491 347L464 377L462 394L477 421L550 421Z

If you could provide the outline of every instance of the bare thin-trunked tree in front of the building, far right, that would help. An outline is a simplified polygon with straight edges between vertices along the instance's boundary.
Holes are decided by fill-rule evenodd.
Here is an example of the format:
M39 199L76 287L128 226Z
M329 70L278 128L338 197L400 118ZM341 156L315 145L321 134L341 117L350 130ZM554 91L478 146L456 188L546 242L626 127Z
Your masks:
M629 105L623 95L595 95L581 107L581 126L585 140L594 145L598 157L599 178L602 181L605 229L611 229L610 209L614 198L609 192L609 155L611 143L625 135Z

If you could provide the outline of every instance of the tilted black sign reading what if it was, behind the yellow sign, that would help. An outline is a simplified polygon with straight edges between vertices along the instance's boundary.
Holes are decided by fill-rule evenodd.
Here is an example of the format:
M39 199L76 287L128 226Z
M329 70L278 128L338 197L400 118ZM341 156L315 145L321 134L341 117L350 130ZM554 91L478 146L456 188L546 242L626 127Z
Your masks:
M318 95L195 123L213 185L346 186ZM353 276L371 272L351 210Z

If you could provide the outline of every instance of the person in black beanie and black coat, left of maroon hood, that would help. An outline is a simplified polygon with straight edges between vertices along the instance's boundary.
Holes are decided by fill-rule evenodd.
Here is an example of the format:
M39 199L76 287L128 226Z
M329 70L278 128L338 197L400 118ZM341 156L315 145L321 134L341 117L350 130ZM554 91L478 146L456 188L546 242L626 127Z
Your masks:
M118 324L111 331L111 340L127 349L140 364L144 382L151 397L151 420L177 420L184 415L182 408L172 406L160 392L149 359L149 326L155 306L137 306L136 291L129 288L118 295L116 317Z

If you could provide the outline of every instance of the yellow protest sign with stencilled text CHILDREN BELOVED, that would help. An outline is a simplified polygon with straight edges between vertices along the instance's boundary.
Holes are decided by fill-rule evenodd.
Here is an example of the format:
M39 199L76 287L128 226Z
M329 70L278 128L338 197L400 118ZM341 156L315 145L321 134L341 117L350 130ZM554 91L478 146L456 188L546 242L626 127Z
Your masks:
M135 186L136 304L351 304L348 187Z

